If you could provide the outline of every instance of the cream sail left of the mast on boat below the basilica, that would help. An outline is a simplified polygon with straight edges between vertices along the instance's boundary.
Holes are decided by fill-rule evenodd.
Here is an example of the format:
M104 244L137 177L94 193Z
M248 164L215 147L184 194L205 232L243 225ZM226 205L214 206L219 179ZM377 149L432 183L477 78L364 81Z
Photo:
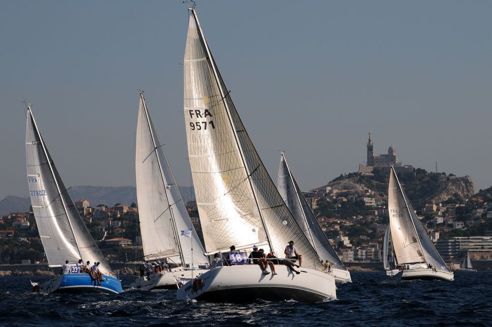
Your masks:
M399 264L426 262L419 242L408 202L392 167L388 188L388 211L390 215L391 239Z

